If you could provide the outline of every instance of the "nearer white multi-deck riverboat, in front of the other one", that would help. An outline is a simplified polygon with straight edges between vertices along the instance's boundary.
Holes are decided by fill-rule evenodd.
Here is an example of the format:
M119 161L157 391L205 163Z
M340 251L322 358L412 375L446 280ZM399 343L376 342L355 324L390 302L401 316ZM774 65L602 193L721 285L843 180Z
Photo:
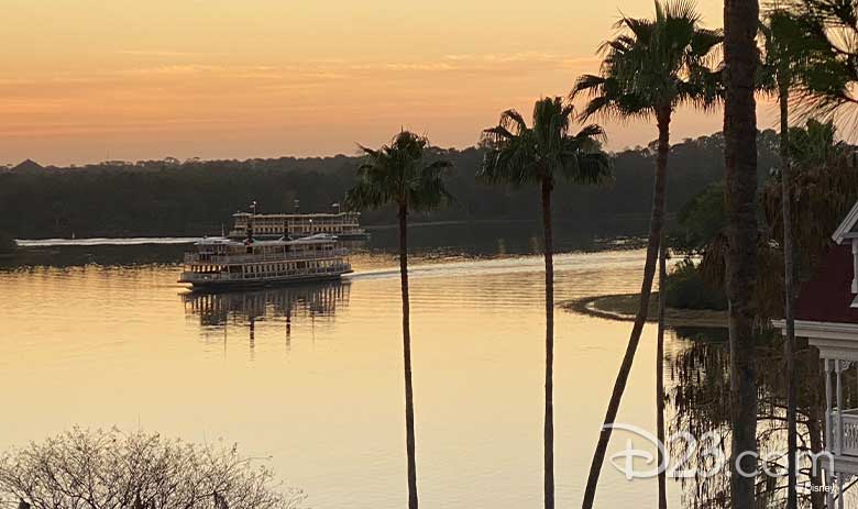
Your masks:
M252 231L251 231L252 233ZM195 288L271 286L337 279L352 272L349 251L327 233L288 240L206 237L185 254L179 283Z

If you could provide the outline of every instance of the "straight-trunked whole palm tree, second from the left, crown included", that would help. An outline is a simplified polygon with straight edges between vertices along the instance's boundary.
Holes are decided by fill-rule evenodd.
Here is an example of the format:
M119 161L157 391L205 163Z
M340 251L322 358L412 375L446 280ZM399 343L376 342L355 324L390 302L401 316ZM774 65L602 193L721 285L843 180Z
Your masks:
M570 135L574 117L571 104L561 98L540 99L534 106L532 126L515 110L501 114L495 128L483 131L487 147L477 178L491 182L522 186L537 184L542 198L542 226L546 258L546 416L544 416L544 507L554 507L554 266L551 233L551 192L558 180L592 185L606 180L610 163L600 146L604 136L598 125L586 125Z

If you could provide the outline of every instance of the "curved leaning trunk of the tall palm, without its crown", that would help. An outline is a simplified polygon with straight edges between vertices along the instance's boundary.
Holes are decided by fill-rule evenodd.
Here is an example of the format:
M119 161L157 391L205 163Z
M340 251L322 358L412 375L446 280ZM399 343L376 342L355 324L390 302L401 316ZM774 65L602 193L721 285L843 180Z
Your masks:
M656 265L659 257L659 245L661 244L661 230L664 223L664 187L668 169L668 152L670 151L670 107L657 110L656 118L659 128L658 153L656 155L656 179L652 192L652 213L649 221L649 241L647 243L647 262L644 265L644 281L640 285L640 300L638 302L638 313L635 317L635 325L631 328L631 335L626 346L626 353L623 363L619 366L617 378L614 381L614 391L610 394L605 421L602 432L598 435L596 451L593 453L593 462L590 465L590 475L587 486L584 490L583 509L591 509L596 498L596 486L598 476L602 472L602 465L605 463L608 442L613 429L610 425L617 418L619 402L623 399L623 392L626 390L631 364L635 362L635 353L640 343L640 334L644 332L644 324L647 322L649 311L649 296L652 291L652 279L656 277Z

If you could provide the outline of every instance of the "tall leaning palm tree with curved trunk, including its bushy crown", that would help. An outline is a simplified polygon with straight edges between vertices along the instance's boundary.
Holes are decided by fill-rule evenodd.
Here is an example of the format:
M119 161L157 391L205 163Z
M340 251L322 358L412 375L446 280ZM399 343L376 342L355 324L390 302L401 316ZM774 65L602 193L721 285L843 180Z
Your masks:
M654 19L624 16L617 23L617 29L620 33L601 48L605 56L600 75L579 78L572 97L588 93L584 118L596 114L622 119L654 117L659 136L647 261L638 312L593 454L582 505L584 509L593 507L610 440L610 424L617 417L647 320L664 222L671 118L675 109L684 104L708 109L719 93L719 73L713 69L713 64L723 36L719 31L701 25L693 3L678 0L662 4L657 1ZM657 390L657 396L659 392Z

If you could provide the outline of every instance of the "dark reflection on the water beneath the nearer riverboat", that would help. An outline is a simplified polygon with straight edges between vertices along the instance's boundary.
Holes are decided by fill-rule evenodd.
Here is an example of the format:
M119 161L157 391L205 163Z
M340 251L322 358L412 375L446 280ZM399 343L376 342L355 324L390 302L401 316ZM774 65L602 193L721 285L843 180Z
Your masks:
M199 316L205 327L224 325L230 321L252 323L256 320L302 316L333 317L338 308L349 305L348 281L317 285L293 285L252 291L183 295L185 313Z

